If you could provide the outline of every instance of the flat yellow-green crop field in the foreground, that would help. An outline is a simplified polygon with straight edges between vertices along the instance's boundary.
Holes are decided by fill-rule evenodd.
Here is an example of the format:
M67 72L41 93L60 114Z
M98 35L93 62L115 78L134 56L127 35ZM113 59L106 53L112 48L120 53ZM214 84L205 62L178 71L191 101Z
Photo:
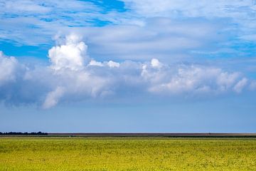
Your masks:
M256 170L256 139L1 138L0 170Z

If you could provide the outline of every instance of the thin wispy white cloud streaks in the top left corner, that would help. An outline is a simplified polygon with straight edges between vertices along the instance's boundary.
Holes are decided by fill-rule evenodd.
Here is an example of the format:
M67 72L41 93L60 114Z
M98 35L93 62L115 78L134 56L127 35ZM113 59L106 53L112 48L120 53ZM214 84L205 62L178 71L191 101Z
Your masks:
M90 1L68 1L68 0L56 0L56 1L0 1L0 9L5 14L19 14L21 16L38 16L41 19L54 20L55 17L59 17L59 14L63 16L73 16L75 14L87 14L88 11L100 11L100 9L92 4ZM73 15L68 11L73 11ZM55 14L55 15L53 15ZM56 15L57 14L57 15ZM70 15L68 15L70 14Z

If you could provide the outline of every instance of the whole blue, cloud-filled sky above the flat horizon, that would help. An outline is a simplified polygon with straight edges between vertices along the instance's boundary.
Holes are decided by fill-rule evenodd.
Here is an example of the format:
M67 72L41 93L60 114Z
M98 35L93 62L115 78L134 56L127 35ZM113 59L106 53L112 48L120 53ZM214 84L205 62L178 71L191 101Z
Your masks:
M0 0L0 132L255 133L255 0Z

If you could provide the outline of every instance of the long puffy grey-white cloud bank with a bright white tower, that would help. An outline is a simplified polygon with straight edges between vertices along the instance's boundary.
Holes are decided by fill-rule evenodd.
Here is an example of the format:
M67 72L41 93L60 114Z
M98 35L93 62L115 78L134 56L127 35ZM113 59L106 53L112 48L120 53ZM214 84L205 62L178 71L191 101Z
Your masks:
M0 53L0 99L6 104L36 104L53 108L58 103L137 95L197 96L241 93L253 81L239 72L214 66L168 65L151 61L97 61L77 34L48 51L50 65L26 66ZM252 88L251 88L252 89Z

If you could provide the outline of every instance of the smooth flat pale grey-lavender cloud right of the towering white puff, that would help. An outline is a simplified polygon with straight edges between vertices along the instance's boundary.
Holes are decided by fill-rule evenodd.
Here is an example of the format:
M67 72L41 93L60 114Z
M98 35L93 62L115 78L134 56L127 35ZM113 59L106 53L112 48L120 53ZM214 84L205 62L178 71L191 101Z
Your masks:
M189 51L195 49L218 48L213 43L225 41L228 36L218 33L224 27L225 24L218 21L178 21L157 17L146 19L142 26L123 24L77 28L75 31L85 37L92 56L108 60L144 61L159 58L174 61L182 56L190 56Z

